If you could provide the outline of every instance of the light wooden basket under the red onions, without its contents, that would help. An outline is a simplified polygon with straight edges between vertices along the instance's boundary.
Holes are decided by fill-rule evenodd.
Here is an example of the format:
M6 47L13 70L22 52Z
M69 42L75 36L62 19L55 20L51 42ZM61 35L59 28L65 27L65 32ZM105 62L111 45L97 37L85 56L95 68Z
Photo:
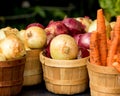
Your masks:
M86 61L88 57L75 60L55 60L40 53L43 77L48 91L72 95L88 88Z

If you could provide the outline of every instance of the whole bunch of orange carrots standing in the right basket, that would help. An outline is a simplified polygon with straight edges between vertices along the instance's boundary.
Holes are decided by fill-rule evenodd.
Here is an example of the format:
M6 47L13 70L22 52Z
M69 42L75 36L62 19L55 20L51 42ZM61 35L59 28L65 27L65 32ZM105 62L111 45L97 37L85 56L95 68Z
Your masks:
M102 9L97 10L97 30L90 37L90 63L113 66L120 72L120 16L116 17L108 38L104 12Z

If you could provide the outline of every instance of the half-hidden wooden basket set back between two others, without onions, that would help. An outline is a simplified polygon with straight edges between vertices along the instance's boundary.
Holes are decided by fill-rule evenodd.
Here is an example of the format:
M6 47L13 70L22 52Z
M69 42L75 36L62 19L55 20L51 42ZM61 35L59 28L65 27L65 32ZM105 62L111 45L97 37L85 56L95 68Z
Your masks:
M24 86L32 86L42 82L42 65L39 60L39 53L42 49L27 51L24 70Z

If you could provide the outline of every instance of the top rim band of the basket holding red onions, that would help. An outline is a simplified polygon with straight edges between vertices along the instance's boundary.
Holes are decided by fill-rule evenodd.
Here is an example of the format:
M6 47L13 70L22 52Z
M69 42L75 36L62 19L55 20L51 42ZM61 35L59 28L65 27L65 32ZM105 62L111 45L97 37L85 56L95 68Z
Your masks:
M82 59L74 59L74 60L56 60L46 57L44 51L40 52L39 58L43 65L51 66L51 67L81 67L86 66L86 61L89 57ZM50 63L52 62L52 63ZM73 64L74 62L74 64ZM73 66L74 65L74 66Z

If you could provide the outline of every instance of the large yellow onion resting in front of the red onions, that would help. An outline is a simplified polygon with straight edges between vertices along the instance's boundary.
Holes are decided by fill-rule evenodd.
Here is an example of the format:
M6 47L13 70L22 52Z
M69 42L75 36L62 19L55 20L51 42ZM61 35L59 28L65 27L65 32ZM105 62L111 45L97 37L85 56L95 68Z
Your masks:
M74 38L67 34L54 37L50 43L50 54L53 59L71 60L77 58L78 46Z

